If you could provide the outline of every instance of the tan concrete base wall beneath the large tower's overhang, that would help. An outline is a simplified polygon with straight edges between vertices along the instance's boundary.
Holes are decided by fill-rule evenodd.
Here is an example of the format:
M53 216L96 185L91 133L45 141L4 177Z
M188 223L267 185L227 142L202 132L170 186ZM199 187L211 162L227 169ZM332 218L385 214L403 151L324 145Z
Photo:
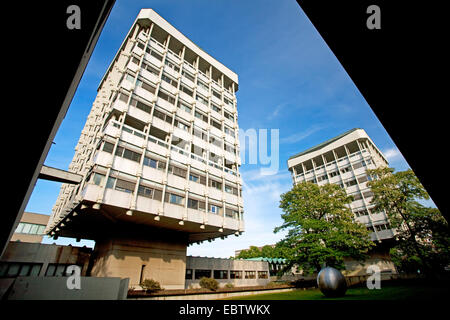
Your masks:
M186 247L183 239L96 241L91 276L130 278L136 288L141 279L153 279L164 289L184 289Z

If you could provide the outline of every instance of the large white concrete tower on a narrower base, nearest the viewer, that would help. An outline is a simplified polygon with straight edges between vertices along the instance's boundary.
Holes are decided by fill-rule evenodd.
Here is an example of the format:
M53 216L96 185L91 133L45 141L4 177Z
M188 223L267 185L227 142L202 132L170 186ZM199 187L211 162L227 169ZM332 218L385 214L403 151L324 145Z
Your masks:
M94 276L184 288L186 246L244 231L237 75L151 9L111 62L46 231L93 239Z

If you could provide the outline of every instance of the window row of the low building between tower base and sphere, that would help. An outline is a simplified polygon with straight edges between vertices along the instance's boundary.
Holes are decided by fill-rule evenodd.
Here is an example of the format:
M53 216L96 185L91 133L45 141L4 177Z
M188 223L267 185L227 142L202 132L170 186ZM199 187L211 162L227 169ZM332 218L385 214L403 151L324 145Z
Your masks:
M214 279L256 279L256 275L258 275L258 279L268 278L267 271L186 269L186 280L199 280L203 277Z

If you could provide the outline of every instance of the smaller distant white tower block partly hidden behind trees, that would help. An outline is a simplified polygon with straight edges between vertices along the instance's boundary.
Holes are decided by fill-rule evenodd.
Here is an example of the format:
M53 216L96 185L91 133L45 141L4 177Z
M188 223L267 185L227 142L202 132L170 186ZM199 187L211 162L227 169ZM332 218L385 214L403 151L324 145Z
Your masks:
M354 201L350 209L356 221L367 226L373 241L393 238L385 212L371 204L373 193L367 186L368 169L387 167L388 161L363 129L352 129L288 160L293 183L340 185Z

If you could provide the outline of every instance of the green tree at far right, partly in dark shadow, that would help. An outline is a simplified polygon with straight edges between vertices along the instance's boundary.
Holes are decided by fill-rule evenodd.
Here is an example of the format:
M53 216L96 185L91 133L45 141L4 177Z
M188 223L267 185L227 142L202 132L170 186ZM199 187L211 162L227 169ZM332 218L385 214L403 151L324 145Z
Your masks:
M447 221L436 208L425 207L418 200L430 197L411 169L394 172L393 168L368 170L368 183L377 211L386 212L396 231L396 245L391 256L405 272L434 276L450 263Z

